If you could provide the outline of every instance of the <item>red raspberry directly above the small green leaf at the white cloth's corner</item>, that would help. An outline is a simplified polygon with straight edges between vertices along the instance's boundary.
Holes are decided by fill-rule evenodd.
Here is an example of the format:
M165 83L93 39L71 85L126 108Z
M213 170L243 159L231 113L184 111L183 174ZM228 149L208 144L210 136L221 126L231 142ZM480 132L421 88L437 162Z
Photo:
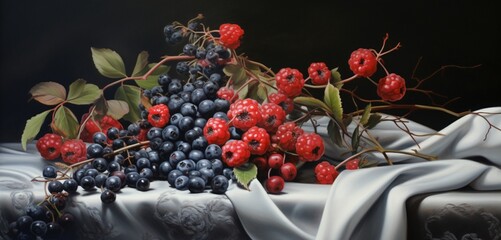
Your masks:
M222 147L223 162L229 167L238 167L246 163L250 157L250 150L242 140L229 141Z

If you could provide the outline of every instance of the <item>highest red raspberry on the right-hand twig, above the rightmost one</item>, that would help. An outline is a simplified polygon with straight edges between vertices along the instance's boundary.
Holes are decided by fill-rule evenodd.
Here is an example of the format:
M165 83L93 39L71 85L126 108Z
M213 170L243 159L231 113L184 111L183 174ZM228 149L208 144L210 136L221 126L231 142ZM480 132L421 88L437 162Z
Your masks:
M372 50L359 48L351 53L348 64L354 74L370 77L377 70L377 57Z

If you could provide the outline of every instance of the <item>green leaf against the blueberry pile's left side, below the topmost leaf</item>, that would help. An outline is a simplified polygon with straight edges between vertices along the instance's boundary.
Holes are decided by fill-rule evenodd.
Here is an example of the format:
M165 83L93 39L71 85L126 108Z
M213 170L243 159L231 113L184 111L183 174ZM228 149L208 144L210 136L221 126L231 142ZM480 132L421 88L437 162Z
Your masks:
M122 100L129 105L129 112L123 117L129 122L136 122L141 119L141 112L139 110L139 103L141 102L141 89L124 84L117 88L115 92L115 99Z

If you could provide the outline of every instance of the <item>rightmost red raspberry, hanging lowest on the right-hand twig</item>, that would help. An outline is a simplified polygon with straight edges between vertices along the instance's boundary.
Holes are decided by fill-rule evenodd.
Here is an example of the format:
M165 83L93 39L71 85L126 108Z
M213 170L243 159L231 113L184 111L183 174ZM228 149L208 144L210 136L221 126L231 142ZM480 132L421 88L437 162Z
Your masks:
M377 95L381 99L390 102L402 99L405 95L405 90L405 79L395 73L379 79L377 85Z

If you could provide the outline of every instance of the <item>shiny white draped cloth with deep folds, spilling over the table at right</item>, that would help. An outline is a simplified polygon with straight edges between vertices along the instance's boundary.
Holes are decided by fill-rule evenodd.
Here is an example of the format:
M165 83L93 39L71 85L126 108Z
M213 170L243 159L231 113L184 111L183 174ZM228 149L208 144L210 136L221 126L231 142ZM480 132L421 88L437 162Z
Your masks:
M317 129L329 142L327 121L319 119ZM250 191L233 188L226 195L253 239L405 239L409 197L465 186L501 190L501 131L490 124L501 127L500 107L476 111L439 132L409 121L407 126L414 133L437 133L414 139L394 122L384 121L370 133L386 149L416 150L438 160L389 154L397 164L343 171L332 186L286 183L283 194L268 195L254 180ZM331 144L327 157L340 159L344 150ZM479 156L486 162L468 159ZM385 161L381 154L371 157ZM296 196L295 189L301 189L302 195ZM301 200L290 206L294 198ZM287 204L283 199L288 199ZM306 214L297 220L298 213Z

